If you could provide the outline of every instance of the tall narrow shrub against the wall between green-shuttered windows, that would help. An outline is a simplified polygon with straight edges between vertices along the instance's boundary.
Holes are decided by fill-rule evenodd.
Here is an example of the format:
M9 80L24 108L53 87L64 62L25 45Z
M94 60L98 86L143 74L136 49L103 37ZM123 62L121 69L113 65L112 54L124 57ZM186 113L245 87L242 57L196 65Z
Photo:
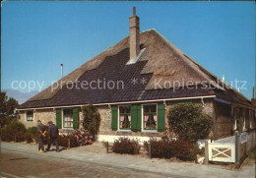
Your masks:
M83 127L88 130L91 135L95 136L98 133L100 125L100 115L97 112L96 106L89 105L83 107Z

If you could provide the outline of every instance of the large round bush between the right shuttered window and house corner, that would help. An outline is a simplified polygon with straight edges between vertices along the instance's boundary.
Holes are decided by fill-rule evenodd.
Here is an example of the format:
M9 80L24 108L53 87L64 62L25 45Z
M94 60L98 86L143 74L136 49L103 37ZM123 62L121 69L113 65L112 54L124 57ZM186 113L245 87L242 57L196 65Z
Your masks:
M178 139L189 142L208 138L213 126L211 116L192 102L176 104L169 109L167 118L170 130L177 134Z

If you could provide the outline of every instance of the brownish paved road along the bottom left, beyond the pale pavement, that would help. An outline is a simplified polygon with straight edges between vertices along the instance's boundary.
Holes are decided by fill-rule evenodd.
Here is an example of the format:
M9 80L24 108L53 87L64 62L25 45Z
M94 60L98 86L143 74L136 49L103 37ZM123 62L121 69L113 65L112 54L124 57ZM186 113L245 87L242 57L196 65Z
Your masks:
M3 177L162 177L153 173L9 150L2 150L1 161Z

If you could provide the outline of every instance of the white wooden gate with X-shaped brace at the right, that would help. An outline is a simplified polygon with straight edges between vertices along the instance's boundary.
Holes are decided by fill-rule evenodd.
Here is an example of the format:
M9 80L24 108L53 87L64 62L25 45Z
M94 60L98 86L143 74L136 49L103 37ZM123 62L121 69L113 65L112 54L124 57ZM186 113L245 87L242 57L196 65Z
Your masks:
M220 162L235 162L234 144L208 143L209 160Z

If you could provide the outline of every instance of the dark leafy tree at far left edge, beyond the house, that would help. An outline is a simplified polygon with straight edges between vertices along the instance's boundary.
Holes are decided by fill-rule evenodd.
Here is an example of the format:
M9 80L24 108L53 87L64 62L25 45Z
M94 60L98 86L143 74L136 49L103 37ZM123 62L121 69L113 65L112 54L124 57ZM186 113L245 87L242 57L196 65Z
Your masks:
M0 124L1 127L8 125L16 118L15 108L19 106L18 101L8 97L5 91L0 92Z

